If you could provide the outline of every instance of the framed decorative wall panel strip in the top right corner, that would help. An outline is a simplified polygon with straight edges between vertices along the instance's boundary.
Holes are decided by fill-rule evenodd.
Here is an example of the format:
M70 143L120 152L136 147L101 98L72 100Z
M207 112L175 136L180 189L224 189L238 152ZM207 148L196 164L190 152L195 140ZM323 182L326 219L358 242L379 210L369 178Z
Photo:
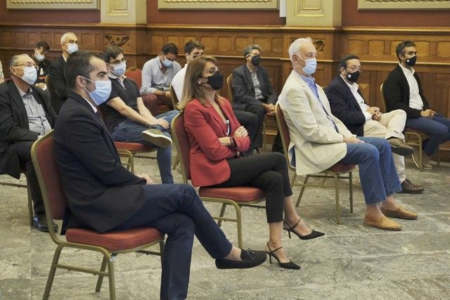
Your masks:
M450 9L449 0L358 0L358 10L432 10Z

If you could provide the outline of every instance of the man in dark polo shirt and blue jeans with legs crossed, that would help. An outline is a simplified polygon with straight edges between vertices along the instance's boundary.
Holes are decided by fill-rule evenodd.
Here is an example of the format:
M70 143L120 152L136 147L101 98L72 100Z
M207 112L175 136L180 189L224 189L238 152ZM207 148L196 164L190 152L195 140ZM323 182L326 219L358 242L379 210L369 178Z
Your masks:
M157 161L162 183L174 183L171 169L172 138L170 123L177 110L153 117L143 105L136 82L124 76L127 60L119 46L108 46L103 51L108 66L112 91L100 108L113 141L142 143L158 147Z

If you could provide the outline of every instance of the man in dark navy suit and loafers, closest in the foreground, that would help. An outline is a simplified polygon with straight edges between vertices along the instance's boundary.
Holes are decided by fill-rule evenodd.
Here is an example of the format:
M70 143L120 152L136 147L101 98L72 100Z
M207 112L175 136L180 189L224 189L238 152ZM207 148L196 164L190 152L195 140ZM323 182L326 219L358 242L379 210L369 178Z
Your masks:
M185 299L193 235L218 268L251 268L264 252L234 247L189 185L153 185L134 175L117 155L97 106L108 100L111 81L103 58L92 51L69 56L65 77L71 89L55 125L55 159L68 201L66 228L100 233L153 227L168 235L162 261L161 299Z

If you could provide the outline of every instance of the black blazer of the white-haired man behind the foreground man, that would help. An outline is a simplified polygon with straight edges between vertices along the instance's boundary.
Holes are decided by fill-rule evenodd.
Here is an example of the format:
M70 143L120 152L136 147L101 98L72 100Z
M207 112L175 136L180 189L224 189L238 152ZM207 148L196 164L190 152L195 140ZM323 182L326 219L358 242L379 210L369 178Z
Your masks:
M65 60L63 56L57 58L50 65L49 89L51 95L51 105L56 113L59 112L66 98L68 98L69 89L64 76Z

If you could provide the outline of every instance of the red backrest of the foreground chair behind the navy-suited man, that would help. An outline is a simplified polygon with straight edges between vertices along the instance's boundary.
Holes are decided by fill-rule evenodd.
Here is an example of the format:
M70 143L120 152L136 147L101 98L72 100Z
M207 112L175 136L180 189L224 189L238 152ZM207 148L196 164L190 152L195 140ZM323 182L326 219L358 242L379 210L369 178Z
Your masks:
M52 219L62 220L67 202L53 156L53 130L33 143L31 156L46 214Z

